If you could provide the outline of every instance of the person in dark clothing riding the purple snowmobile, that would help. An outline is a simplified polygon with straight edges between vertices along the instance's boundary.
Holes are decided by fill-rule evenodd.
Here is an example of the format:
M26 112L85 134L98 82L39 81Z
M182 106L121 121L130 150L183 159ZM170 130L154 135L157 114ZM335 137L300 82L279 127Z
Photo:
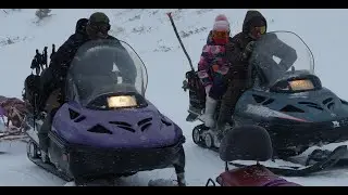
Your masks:
M80 22L79 24L84 24L84 21L86 22L86 20L78 22ZM78 22L76 24L76 27L79 27ZM40 110L47 110L48 115L45 118L41 128L39 129L38 136L44 161L48 160L46 156L48 150L48 132L51 128L53 116L58 108L64 103L64 84L70 64L73 61L79 47L82 47L89 40L119 40L108 34L110 27L110 20L104 13L96 12L91 14L87 22L85 28L86 30L84 31L83 25L82 28L76 29L76 34L71 36L52 55L50 66L49 68L47 68L48 70L45 73L45 75L42 75L41 91L44 92L44 94L41 94L42 98L40 98L39 107ZM120 48L123 48L121 42ZM123 69L125 69L125 72L134 73L134 75L129 79L135 82L137 73L136 67L122 67L121 65L122 64L120 64L119 66L121 73L123 72Z

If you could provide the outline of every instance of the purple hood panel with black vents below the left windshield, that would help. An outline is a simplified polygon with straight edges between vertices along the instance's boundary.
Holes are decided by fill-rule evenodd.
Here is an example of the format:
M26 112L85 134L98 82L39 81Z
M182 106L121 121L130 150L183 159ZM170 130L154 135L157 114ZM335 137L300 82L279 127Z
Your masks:
M148 102L144 108L120 110L94 110L80 107L77 103L65 103L53 118L52 131L70 144L82 144L101 148L149 148L163 147L177 143L182 138L182 129ZM69 109L72 108L86 118L75 122L70 118ZM77 117L77 118L79 118ZM140 120L152 118L151 126L141 131L137 125ZM77 119L76 118L76 119ZM171 122L164 125L161 119ZM119 128L110 121L122 121L132 125L135 132ZM96 133L87 131L96 125L101 125L112 132Z

